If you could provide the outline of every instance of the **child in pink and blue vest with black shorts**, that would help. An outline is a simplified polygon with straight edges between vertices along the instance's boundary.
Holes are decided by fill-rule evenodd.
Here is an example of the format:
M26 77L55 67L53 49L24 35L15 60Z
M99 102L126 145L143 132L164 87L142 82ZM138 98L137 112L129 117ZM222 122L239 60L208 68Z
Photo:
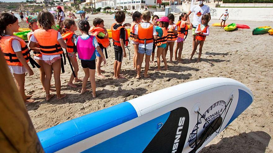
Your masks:
M98 44L95 36L89 36L88 31L90 29L90 25L87 20L80 20L78 23L78 27L80 32L83 34L78 36L75 44L78 50L78 56L81 60L81 64L84 71L83 78L83 86L81 94L87 91L86 83L88 78L91 82L92 88L92 97L96 97L96 81L95 81L95 73L96 73L96 49L98 53L102 57L102 61L106 64L105 57L101 51L100 45Z

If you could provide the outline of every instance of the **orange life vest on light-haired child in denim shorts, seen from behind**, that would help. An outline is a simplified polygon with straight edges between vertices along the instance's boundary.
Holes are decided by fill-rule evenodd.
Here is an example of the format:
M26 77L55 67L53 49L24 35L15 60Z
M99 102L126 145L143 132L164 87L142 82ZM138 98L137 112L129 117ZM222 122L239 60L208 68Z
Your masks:
M148 44L154 42L153 36L154 25L150 24L148 28L142 28L138 25L138 42L141 44Z

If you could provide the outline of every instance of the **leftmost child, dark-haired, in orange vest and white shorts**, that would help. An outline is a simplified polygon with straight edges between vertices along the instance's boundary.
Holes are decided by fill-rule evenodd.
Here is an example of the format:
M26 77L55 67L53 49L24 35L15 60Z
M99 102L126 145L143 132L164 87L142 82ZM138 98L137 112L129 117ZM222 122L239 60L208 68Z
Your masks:
M28 72L30 76L33 75L33 71L28 65L30 54L25 41L13 35L13 32L18 32L20 28L18 23L18 19L14 15L0 14L0 49L25 104L29 104L34 100L29 99L31 96L25 95L25 72Z

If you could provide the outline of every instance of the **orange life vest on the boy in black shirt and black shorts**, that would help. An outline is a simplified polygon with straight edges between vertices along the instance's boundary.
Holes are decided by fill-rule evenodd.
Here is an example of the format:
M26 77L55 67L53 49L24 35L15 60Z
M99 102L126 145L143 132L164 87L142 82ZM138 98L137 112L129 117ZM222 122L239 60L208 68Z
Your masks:
M117 23L113 23L112 26L111 26L112 40L113 40L114 45L121 46L120 41L119 41L120 29L124 28L124 27L120 26L119 28L114 29L114 25L116 25L116 24ZM128 32L127 32L127 29L125 29L125 38L124 38L125 46L128 46L128 41L129 41L128 40Z

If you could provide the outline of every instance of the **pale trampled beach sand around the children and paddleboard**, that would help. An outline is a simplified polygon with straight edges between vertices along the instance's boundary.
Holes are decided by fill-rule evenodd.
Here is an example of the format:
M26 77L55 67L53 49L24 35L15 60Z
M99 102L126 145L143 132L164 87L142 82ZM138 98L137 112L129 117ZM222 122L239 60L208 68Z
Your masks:
M105 21L105 28L110 29L114 23L114 15L89 15L92 19L100 17ZM178 16L176 15L176 21ZM210 25L220 20L211 20ZM128 16L125 22L131 23ZM52 98L45 100L39 80L39 70L34 70L33 76L26 76L26 94L33 95L35 103L27 105L28 113L37 132L69 121L76 117L108 108L126 100L148 94L166 87L184 82L208 77L226 77L238 80L251 89L254 101L238 118L236 118L221 134L213 139L201 152L272 152L273 151L273 72L272 72L272 42L273 36L252 35L252 29L259 26L273 25L273 22L231 21L228 23L247 24L251 29L238 29L234 32L225 32L220 27L210 26L210 35L207 37L201 62L197 63L198 55L188 62L192 51L192 34L184 42L182 58L185 63L168 62L168 70L154 71L156 64L150 65L150 78L135 79L132 57L133 46L129 45L129 57L123 59L121 74L126 79L113 79L114 47L107 49L109 58L107 64L102 66L106 78L96 78L97 98L92 98L91 92L80 95L81 83L75 83L77 88L67 86L71 70L69 64L65 65L65 73L61 74L61 93L67 94L62 100ZM26 23L20 23L21 28L27 28ZM77 34L80 34L77 31ZM128 50L127 50L127 56ZM169 51L167 61L169 61ZM156 60L156 58L155 58ZM83 79L84 72L79 63L78 77ZM143 65L144 66L144 62ZM163 68L163 63L161 63ZM142 69L142 73L144 69ZM51 84L54 84L52 77ZM54 87L54 86L53 86ZM91 88L90 82L87 84ZM54 92L52 92L54 93Z

